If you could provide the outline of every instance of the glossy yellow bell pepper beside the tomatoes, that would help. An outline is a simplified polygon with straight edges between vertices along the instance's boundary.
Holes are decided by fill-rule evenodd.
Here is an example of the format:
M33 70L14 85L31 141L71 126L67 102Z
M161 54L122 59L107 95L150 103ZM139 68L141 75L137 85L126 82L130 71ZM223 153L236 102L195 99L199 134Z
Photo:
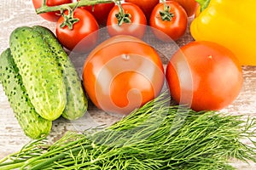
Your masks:
M192 37L229 48L241 65L256 65L256 0L207 2L190 25Z

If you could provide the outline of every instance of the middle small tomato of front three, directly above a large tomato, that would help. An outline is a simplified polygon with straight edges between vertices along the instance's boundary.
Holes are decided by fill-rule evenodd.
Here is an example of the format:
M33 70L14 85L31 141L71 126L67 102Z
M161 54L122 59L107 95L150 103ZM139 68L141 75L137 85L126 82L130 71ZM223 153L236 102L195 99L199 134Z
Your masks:
M119 11L119 6L115 5L108 14L107 26L108 34L113 37L116 35L131 35L134 37L142 38L147 26L147 19L143 10L133 3L122 3L121 7L124 9L123 14ZM119 20L117 14L126 15L129 18L131 16L131 23L123 22L120 26L118 25Z

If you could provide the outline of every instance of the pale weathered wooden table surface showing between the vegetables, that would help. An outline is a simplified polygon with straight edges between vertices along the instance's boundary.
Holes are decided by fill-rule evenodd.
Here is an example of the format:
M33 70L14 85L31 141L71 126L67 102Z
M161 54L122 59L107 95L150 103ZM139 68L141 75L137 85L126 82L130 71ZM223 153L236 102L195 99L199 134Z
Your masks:
M0 14L0 53L9 47L9 35L18 26L40 25L55 31L55 23L43 20L35 14L31 0L3 0L0 3L0 11L2 13ZM190 37L188 29L186 35L177 41L177 45L181 46L189 41L192 41L192 37ZM75 59L73 61L76 62ZM243 66L243 75L244 84L241 94L223 111L234 115L256 116L256 67ZM90 107L88 113L78 121L70 122L60 118L53 122L49 141L59 139L67 131L81 131L86 127L94 127L100 124L107 124L108 126L118 120L119 117L108 115ZM30 139L20 129L0 84L0 159L20 150L29 141ZM231 164L237 169L256 169L256 164L253 162L248 165L241 161L232 161Z

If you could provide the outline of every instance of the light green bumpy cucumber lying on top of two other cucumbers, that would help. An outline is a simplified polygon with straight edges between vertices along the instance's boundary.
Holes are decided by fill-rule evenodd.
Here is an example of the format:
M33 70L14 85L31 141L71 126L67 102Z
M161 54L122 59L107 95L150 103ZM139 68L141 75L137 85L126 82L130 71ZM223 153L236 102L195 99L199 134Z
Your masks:
M49 121L57 119L65 109L67 94L49 44L31 27L21 26L11 33L9 45L35 110Z

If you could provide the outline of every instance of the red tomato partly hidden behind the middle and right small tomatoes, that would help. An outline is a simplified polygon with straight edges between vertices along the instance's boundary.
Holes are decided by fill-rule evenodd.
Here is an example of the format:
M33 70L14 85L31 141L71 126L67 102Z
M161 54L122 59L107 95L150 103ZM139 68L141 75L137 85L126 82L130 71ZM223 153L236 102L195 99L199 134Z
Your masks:
M125 0L125 3L134 3L139 8L143 9L143 13L146 18L149 20L150 14L155 5L159 3L159 0Z

